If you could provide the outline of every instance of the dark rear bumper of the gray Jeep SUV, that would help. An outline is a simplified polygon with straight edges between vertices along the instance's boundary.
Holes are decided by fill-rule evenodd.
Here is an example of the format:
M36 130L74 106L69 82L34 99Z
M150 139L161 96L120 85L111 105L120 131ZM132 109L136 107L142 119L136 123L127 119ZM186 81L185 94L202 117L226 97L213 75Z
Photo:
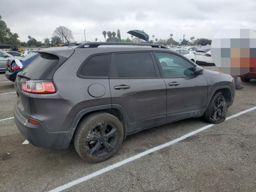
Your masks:
M28 122L17 108L14 106L14 120L18 130L31 144L36 147L49 148L49 149L66 149L68 148L74 130L68 131L48 131L42 122L39 125L33 125Z

